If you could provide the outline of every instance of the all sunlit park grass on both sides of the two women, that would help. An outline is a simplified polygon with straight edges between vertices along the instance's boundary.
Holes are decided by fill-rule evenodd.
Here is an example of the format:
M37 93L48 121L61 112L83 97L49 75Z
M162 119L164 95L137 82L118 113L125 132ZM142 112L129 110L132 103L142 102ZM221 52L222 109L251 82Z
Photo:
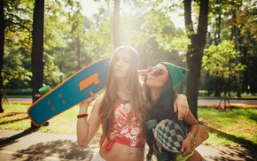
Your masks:
M31 121L27 117L30 104L4 103L4 113L0 113L0 129L27 130ZM40 126L37 131L56 134L76 134L78 106L49 120L49 126ZM91 108L90 108L91 109ZM90 111L89 109L89 111ZM234 108L218 111L212 107L198 110L200 124L207 127L207 145L246 146L257 148L256 108ZM101 131L97 132L99 136Z

